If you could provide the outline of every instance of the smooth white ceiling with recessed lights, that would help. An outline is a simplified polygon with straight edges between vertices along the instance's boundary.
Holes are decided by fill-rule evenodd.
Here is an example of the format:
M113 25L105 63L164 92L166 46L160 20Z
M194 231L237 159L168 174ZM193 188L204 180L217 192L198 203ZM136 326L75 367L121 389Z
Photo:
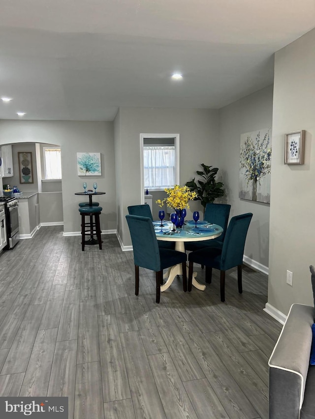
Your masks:
M0 119L221 108L272 84L274 52L314 27L315 0L0 0Z

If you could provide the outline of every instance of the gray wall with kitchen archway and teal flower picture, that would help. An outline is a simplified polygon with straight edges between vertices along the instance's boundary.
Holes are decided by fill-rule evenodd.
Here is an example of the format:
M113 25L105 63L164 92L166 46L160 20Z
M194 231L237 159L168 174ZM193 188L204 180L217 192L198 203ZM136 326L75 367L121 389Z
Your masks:
M62 149L62 190L64 232L81 230L78 202L82 197L74 192L83 192L82 182L86 180L92 188L98 183L98 191L106 192L99 196L103 207L101 228L116 229L116 185L114 134L112 122L81 121L0 121L0 144L17 142L38 142L60 144ZM100 152L101 176L78 176L76 153ZM97 197L98 198L98 197Z

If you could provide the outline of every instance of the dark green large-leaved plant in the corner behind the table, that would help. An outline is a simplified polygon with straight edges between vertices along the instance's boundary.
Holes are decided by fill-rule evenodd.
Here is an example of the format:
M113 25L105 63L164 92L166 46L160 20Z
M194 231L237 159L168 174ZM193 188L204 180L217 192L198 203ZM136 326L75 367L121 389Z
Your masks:
M205 211L207 203L213 203L216 198L220 198L225 194L222 189L223 183L216 181L216 176L219 168L213 168L201 163L203 171L196 170L197 175L201 176L201 179L195 181L195 178L186 183L190 191L196 192L197 196L195 200L199 199Z

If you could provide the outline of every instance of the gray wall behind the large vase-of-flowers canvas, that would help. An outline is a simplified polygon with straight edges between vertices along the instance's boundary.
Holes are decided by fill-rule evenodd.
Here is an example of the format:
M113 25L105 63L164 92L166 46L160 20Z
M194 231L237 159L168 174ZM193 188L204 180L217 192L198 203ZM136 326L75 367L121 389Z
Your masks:
M252 212L245 255L256 266L267 272L269 264L269 204L241 200L239 193L240 136L272 126L273 86L232 103L220 110L219 167L226 190L226 201L231 204L230 216ZM272 143L274 147L274 140ZM273 148L274 150L274 148ZM275 164L272 151L272 170Z

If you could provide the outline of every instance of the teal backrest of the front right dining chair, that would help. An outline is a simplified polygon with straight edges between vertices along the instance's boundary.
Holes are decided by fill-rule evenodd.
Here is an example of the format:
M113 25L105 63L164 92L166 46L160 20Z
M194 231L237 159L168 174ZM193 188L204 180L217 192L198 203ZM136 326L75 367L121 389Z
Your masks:
M242 265L247 231L252 213L236 215L228 224L221 253L221 270Z

